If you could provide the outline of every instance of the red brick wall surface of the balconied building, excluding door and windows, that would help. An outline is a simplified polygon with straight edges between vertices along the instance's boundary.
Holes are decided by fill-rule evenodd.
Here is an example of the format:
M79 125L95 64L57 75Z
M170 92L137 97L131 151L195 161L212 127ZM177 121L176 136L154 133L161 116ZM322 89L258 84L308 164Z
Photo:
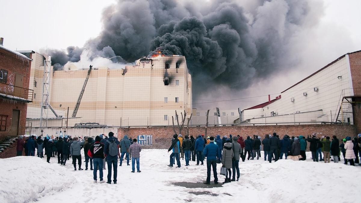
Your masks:
M31 57L31 55L30 55ZM7 84L15 85L16 73L23 75L23 88L29 88L31 61L15 53L0 48L0 69L8 71ZM6 85L0 84L1 88ZM22 95L27 96L27 91L22 90ZM27 103L11 99L0 99L0 115L7 115L6 131L0 131L0 141L10 135L13 109L20 110L19 134L25 134Z

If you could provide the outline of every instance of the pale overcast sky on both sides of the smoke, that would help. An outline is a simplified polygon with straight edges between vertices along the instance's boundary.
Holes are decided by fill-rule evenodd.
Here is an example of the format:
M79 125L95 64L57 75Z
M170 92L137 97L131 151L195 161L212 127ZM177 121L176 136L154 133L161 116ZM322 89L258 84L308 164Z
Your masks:
M82 47L98 36L102 29L101 13L115 0L0 0L0 36L4 47L12 50L39 51L42 48L65 49ZM361 0L323 0L321 21L309 33L304 44L300 67L279 73L277 80L255 81L242 95L230 94L235 99L245 96L273 94L285 90L337 57L361 49ZM322 11L321 11L322 12ZM282 85L279 85L282 84ZM276 95L274 95L276 96ZM204 98L204 101L212 98ZM232 108L247 107L267 98L229 102ZM194 101L193 103L201 102Z

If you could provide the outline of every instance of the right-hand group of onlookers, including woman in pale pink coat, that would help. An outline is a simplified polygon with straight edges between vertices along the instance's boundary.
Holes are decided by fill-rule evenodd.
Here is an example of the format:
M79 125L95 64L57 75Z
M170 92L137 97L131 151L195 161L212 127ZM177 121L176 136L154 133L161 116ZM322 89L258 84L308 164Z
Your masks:
M214 183L218 183L216 165L221 163L225 168L225 182L239 180L239 160L245 161L261 157L261 151L264 151L264 160L272 162L282 159L306 160L306 149L309 143L309 150L312 154L313 161L324 161L325 163L338 163L342 153L344 164L359 164L359 156L361 157L361 134L357 137L345 137L341 142L333 135L317 137L316 134L307 137L300 135L290 137L284 135L279 138L277 133L272 135L266 134L262 139L258 135L247 136L244 140L242 136L223 136L216 138L212 136L205 137L198 135L194 138L187 135L183 138L181 134L173 135L171 146L168 152L172 151L169 159L169 167L177 162L177 168L181 167L180 159L186 159L186 166L190 165L189 161L197 161L195 165L203 165L204 159L207 157L207 180L205 184L210 182L210 171L213 168ZM361 165L361 164L360 164ZM231 172L232 169L232 172ZM231 174L233 173L232 179ZM235 178L237 174L237 179Z

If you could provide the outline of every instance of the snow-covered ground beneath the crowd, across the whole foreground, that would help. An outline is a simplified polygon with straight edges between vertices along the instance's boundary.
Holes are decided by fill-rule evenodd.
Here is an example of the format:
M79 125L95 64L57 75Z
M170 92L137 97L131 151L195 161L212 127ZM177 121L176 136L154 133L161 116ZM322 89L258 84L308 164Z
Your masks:
M37 157L0 160L0 202L359 202L360 167L323 162L260 160L240 162L240 180L222 187L186 188L173 182L203 182L206 165L191 161L185 167L170 168L166 150L142 150L141 173L131 173L131 165L118 166L118 184L93 183L93 171L74 171L71 160L66 166L51 164ZM307 154L310 157L310 153ZM84 161L84 157L82 157ZM206 163L206 162L205 162ZM217 164L219 172L221 164ZM85 163L82 162L82 168ZM98 172L99 173L99 172ZM104 180L108 170L104 170ZM219 182L224 176L218 175ZM211 176L211 184L213 175ZM202 184L200 184L202 185ZM218 194L195 195L189 192ZM232 196L230 196L232 195Z

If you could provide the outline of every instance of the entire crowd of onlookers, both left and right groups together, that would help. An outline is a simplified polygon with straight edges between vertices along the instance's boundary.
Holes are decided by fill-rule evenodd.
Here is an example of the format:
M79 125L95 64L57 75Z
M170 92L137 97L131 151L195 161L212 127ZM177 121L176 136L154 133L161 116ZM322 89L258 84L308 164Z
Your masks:
M109 136L109 137L108 137ZM88 163L90 162L90 170L94 170L94 181L97 180L97 170L100 173L100 182L103 181L103 169L108 165L108 182L111 183L111 175L113 168L113 182L117 182L117 164L120 159L119 166L122 166L123 158L132 160L132 171L135 172L135 163L137 163L137 172L139 170L139 152L142 147L137 143L136 139L128 138L127 135L123 139L118 140L114 134L110 132L108 136L101 134L95 139L85 137L84 140L79 140L78 137L71 136L52 137L46 136L36 138L34 135L23 140L23 137L17 139L17 156L21 156L25 151L26 156L34 156L35 150L37 156L43 158L44 154L47 156L47 162L50 163L50 158L57 156L58 164L65 165L69 158L72 158L74 170L83 170L81 150L84 150L85 156L85 170L88 170ZM309 147L307 147L309 144ZM344 164L350 165L360 164L361 158L361 134L357 137L345 137L341 141L334 135L317 137L316 134L290 137L283 135L282 139L273 133L266 134L263 138L258 135L247 136L243 139L242 136L223 136L216 135L216 137L198 135L194 138L192 135L188 137L181 134L173 135L171 146L168 149L170 154L169 167L173 167L177 163L177 167L181 167L180 159L185 159L186 166L190 165L190 161L196 161L195 165L204 165L204 159L207 157L207 180L209 184L211 167L215 177L214 182L218 183L216 165L221 163L224 167L226 180L225 182L239 180L239 161L259 159L261 151L264 151L264 160L271 163L273 160L292 159L292 160L306 160L306 150L309 148L312 154L313 161L324 161L330 163L333 161L338 163L342 154ZM45 153L43 153L45 152ZM106 163L105 163L106 162ZM232 172L231 172L232 169ZM231 174L233 176L231 178ZM237 174L237 177L235 175Z

